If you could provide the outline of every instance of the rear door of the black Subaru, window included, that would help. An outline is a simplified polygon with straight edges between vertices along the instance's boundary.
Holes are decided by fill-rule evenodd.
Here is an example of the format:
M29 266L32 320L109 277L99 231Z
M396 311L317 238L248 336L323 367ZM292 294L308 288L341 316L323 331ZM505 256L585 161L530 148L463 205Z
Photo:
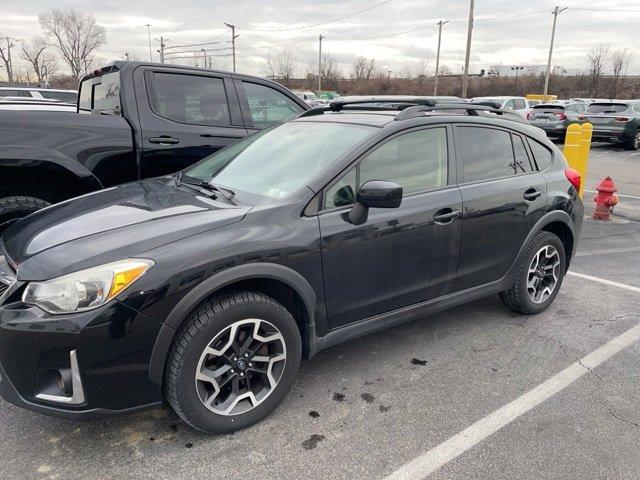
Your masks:
M455 129L462 179L457 289L500 279L542 217L547 185L522 135L465 124Z

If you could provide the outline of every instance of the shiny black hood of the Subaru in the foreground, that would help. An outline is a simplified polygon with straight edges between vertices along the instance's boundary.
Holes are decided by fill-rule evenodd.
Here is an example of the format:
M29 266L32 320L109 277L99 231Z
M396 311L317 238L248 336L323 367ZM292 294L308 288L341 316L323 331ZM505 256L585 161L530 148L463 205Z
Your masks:
M20 280L46 280L238 222L250 209L176 187L165 177L40 210L7 229L2 243Z

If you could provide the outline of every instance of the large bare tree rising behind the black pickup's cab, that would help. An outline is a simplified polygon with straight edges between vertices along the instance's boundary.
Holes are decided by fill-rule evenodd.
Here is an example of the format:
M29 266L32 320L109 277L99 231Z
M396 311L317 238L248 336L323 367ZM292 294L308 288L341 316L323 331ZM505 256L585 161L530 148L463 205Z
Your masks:
M105 29L95 17L75 10L51 10L38 19L47 41L60 51L73 75L80 77L89 70L96 50L106 41Z

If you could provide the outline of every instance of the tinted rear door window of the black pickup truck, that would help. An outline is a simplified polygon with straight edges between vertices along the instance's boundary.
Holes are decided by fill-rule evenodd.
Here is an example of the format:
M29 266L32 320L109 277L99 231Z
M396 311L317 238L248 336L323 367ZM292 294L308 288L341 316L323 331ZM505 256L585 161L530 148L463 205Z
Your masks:
M230 125L221 78L178 73L153 74L151 108L161 117L190 125Z

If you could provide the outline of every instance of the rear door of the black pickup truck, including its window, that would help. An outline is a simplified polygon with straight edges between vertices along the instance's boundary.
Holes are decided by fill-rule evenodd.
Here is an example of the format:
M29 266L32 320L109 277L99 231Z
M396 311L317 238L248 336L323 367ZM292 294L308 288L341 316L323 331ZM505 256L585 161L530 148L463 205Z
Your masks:
M247 135L230 75L154 67L134 78L142 178L181 170Z

